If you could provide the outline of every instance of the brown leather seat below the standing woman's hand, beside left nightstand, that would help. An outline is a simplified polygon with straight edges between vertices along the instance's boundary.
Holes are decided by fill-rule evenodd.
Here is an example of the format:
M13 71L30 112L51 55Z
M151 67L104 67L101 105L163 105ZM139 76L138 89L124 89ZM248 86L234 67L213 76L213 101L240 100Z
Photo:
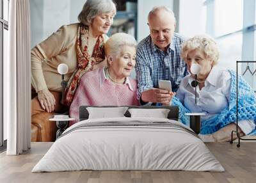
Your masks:
M33 123L31 123L31 141L55 141L56 140L56 122L51 122L54 113L38 113L33 115Z

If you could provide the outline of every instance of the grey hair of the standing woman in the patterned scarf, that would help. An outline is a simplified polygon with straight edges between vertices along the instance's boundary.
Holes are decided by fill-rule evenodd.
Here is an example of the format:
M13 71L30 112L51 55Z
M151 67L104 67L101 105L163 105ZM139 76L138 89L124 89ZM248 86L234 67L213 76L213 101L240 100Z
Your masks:
M97 15L110 12L116 13L116 4L112 0L87 0L78 15L78 20L89 26Z

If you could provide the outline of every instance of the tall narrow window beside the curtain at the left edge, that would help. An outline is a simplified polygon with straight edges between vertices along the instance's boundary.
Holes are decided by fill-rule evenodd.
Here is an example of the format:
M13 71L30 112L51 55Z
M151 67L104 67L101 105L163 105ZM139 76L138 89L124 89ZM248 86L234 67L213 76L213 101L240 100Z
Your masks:
M6 123L3 122L3 64L7 60L9 0L0 0L0 151L6 148Z

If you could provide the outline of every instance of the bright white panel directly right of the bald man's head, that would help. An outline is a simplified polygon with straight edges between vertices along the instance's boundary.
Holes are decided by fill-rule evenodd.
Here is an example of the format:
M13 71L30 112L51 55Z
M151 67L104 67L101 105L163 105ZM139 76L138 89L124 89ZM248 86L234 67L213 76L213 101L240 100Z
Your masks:
M202 0L179 0L179 33L181 35L191 37L204 33L204 19Z

